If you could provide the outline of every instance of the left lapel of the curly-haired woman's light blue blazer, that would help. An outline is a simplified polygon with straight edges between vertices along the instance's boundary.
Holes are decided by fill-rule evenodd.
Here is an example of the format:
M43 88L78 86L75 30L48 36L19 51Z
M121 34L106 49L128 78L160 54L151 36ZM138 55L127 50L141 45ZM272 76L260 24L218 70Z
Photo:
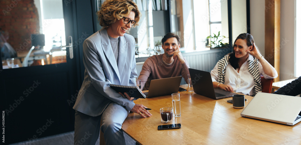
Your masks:
M114 57L114 53L113 53L113 50L112 50L112 46L111 46L111 43L110 43L110 40L109 40L109 36L107 34L107 30L100 31L100 33L101 33L102 49L104 51L104 54L106 55L107 60L109 61L109 64L111 64L111 66L113 67L113 70L117 74L119 84L120 84L120 82L121 82L120 81L120 75L119 75L117 63L116 63L116 60L115 60L115 57ZM119 58L119 56L118 56L118 58Z

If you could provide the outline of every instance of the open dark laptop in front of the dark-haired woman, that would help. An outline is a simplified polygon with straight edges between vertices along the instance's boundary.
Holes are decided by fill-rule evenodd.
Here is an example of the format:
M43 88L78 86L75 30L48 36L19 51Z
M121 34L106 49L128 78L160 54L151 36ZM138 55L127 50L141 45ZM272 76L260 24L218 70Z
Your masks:
M233 95L237 95L236 93L214 88L210 72L189 68L189 73L194 93L212 99L222 99L232 97Z

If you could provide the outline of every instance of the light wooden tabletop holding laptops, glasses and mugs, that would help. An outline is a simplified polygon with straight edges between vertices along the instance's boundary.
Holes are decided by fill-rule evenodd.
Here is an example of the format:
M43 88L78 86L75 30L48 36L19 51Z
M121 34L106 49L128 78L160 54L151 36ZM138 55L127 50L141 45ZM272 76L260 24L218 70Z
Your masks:
M181 86L187 88L186 86ZM162 107L172 107L171 95L138 99L150 110L152 117L143 118L130 113L122 130L140 144L300 144L301 124L288 126L241 117L243 109L235 109L224 98L214 100L188 91L181 95L181 117L172 123L181 123L181 129L157 130ZM246 96L248 101L253 97Z

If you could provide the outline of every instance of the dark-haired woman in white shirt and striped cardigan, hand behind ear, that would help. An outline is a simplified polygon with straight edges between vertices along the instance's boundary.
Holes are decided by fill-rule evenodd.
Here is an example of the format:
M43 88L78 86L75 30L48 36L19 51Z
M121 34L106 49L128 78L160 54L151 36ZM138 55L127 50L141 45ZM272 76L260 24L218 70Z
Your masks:
M215 88L250 96L262 90L260 75L264 78L278 76L275 68L260 54L253 36L248 33L240 34L234 41L233 52L219 60L211 70Z

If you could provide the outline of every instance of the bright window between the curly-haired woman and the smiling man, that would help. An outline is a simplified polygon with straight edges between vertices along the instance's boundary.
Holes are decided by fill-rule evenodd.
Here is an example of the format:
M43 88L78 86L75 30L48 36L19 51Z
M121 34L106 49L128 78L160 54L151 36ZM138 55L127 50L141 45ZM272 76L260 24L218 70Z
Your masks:
M163 53L161 39L167 30L167 0L134 0L141 12L139 25L129 34L136 40L136 57L148 57Z

